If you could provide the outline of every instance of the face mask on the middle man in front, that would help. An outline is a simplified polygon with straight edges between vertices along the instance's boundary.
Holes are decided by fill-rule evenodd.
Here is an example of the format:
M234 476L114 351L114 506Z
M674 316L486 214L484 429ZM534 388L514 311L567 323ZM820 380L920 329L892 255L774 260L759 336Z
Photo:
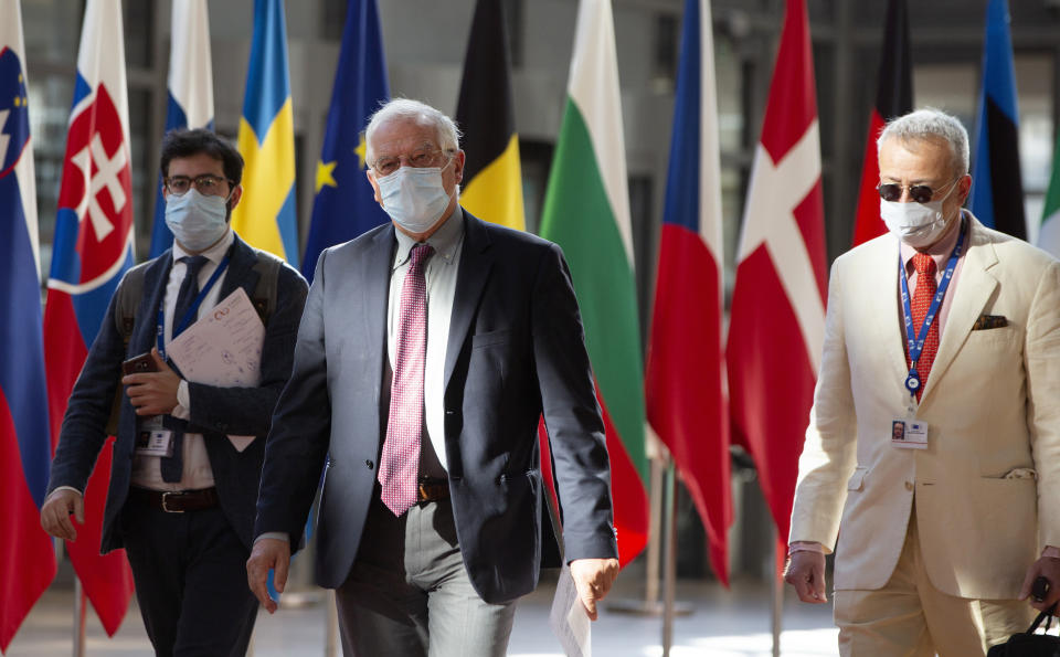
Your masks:
M375 180L383 210L394 223L412 234L426 233L449 206L442 183L445 167L401 167Z

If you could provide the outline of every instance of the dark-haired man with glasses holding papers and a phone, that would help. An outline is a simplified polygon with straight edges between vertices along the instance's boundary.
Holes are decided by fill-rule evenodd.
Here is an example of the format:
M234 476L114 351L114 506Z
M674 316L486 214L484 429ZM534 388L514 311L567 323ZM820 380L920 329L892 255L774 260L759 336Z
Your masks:
M170 133L161 169L174 245L126 274L123 286L137 279L142 287L128 335L119 330L127 317L121 287L110 300L70 398L41 523L75 540L70 516L84 521L82 492L124 384L102 551L125 548L156 654L242 656L257 615L243 562L307 285L230 227L243 193L243 158L230 144L208 130ZM266 276L275 282L262 286ZM252 299L262 289L271 297L262 299L271 309L258 384L184 380L165 358L170 340L237 288ZM123 377L123 361L136 356L157 371Z

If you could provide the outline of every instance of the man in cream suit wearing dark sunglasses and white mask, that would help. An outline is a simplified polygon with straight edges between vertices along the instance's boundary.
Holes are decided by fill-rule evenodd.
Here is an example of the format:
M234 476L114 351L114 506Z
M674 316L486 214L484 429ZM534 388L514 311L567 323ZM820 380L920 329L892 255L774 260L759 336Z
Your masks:
M954 117L879 152L889 234L831 268L786 579L824 603L836 549L844 655L983 655L1060 598L1060 263L961 209Z

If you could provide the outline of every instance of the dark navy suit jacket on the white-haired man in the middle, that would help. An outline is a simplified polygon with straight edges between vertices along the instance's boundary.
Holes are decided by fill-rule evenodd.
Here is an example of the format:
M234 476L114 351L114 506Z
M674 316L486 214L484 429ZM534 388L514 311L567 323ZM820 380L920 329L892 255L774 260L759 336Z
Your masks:
M445 449L457 538L487 602L538 583L544 413L564 516L565 559L617 553L604 426L560 248L465 213L445 362ZM385 433L380 386L396 239L391 224L325 251L295 369L273 418L255 533L297 545L327 462L317 577L346 580L362 538Z

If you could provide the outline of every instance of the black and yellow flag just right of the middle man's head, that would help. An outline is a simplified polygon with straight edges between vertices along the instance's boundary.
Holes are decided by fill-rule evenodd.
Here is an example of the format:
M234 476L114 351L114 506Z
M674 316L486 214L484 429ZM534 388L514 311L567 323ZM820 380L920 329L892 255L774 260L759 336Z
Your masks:
M460 204L471 214L520 231L522 173L511 99L511 61L501 0L478 0L456 107L464 131Z

